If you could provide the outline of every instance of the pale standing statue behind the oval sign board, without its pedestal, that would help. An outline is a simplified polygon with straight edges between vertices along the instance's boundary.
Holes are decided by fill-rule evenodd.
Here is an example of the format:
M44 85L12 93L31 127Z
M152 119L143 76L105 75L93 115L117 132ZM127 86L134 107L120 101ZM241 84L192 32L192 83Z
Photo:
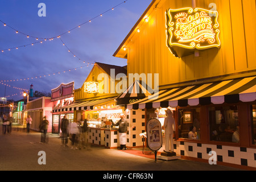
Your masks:
M170 109L166 110L167 117L164 118L164 134L166 136L166 148L164 152L167 153L175 153L174 152L174 130L175 130L175 119L172 115L172 111ZM170 148L171 147L171 148ZM175 154L176 155L176 154Z

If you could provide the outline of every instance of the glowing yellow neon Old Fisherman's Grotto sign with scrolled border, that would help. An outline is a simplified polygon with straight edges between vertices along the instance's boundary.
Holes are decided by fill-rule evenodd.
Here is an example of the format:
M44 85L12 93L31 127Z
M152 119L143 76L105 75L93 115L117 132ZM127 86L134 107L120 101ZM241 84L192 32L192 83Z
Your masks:
M176 57L195 49L220 48L218 11L184 8L166 11L167 46Z

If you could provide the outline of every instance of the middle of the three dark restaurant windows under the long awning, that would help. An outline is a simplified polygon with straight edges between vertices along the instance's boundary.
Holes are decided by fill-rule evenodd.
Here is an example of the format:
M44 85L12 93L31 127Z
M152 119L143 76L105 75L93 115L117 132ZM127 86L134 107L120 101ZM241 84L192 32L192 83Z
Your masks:
M210 140L240 143L237 105L209 107Z

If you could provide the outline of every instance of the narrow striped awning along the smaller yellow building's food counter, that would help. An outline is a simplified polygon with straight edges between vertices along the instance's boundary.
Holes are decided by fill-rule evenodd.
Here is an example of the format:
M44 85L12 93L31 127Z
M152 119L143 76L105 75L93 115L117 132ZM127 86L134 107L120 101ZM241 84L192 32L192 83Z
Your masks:
M93 106L104 104L105 102L114 101L115 97L102 98L100 100L77 102L75 104L62 107L61 109L53 110L53 113L60 111L72 111L72 110L93 110Z

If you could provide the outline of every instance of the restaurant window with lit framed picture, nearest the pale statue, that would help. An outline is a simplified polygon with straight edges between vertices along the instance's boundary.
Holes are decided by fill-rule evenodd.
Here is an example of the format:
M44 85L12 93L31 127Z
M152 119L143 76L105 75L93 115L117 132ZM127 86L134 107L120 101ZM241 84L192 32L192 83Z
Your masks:
M178 109L179 138L200 140L200 107Z

